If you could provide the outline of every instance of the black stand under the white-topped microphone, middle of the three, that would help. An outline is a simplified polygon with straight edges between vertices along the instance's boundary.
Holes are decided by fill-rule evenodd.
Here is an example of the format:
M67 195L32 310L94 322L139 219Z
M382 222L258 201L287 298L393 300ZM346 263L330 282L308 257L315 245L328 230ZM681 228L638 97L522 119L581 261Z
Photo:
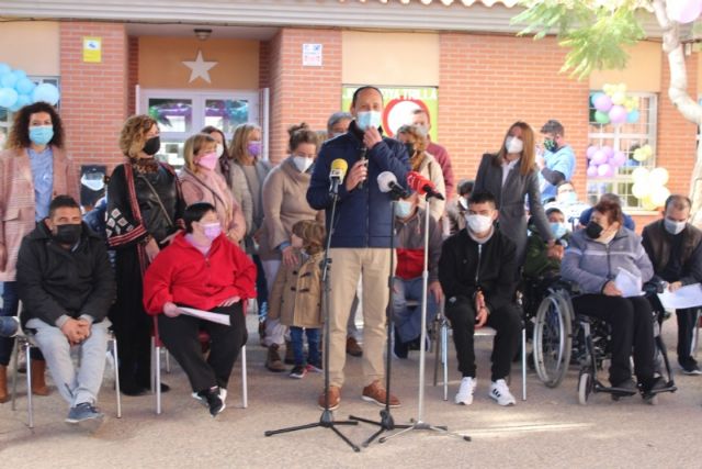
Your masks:
M393 289L393 280L395 278L395 205L397 204L397 196L392 194L390 201L390 273L387 279L387 287L389 289L389 297L387 301L387 308L385 309L385 315L387 317L387 338L385 350L385 409L381 411L381 421L375 422L367 418L361 418L353 415L349 415L350 420L369 423L371 425L377 425L381 428L371 435L365 442L362 443L364 448L373 443L383 432L388 432L395 428L408 428L409 425L395 425L393 415L390 414L390 367L393 364L393 349L390 346L393 338L393 298L395 291ZM397 340L398 337L395 337Z

